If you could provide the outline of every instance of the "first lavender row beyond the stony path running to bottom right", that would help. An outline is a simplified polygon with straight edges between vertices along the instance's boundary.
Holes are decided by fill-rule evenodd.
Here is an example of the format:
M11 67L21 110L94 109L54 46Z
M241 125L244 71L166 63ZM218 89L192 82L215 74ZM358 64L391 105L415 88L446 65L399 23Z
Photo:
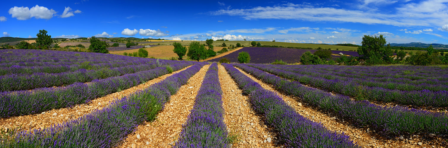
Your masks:
M382 107L369 101L352 101L343 95L332 95L320 89L306 87L297 81L289 81L244 64L233 64L259 79L274 85L276 89L300 97L302 101L324 110L331 110L356 123L377 128L389 134L416 134L430 132L448 133L448 116L444 113L408 109L401 106ZM275 72L273 68L269 72Z

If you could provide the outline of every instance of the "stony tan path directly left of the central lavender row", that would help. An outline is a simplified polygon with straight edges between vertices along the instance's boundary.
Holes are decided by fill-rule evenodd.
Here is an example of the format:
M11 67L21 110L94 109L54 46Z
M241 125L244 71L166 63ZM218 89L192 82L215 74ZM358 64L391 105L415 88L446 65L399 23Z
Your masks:
M171 96L155 121L138 126L137 131L129 134L119 148L171 148L193 109L195 97L209 67L205 65L193 75L186 85L182 85Z

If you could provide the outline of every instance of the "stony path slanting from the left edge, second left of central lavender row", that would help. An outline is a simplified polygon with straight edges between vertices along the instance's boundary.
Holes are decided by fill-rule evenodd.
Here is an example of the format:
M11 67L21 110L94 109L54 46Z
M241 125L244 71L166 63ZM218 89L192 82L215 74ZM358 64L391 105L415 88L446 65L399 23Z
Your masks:
M190 66L186 68L189 67ZM122 96L127 96L140 89L145 89L150 85L153 85L161 80L164 80L168 76L171 76L177 72L185 70L186 68L183 68L176 72L172 72L170 74L159 76L158 78L149 80L144 84L140 84L131 87L129 89L125 89L121 92L111 93L104 97L96 98L88 103L79 104L73 107L52 109L45 111L41 114L30 114L30 115L0 119L0 129L6 129L6 128L11 129L14 127L22 127L21 130L30 130L35 128L43 129L45 127L50 127L52 124L64 123L65 121L69 121L70 119L75 119L85 114L90 114L94 110L97 109L101 110L103 107L108 106L110 101L113 101L117 98L121 98Z

